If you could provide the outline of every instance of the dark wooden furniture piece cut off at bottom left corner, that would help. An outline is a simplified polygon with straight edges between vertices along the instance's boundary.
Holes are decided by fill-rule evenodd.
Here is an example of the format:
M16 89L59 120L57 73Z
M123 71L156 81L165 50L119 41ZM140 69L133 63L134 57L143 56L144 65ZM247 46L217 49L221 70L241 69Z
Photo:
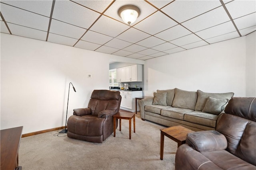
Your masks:
M14 127L0 131L1 135L1 170L21 170L18 165L18 150L22 135L21 127Z

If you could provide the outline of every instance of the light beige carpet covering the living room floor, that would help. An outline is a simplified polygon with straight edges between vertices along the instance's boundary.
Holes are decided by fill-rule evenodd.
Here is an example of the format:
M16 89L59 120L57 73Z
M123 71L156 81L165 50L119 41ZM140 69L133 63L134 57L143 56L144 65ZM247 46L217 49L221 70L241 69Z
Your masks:
M90 143L54 136L57 131L24 137L20 142L22 170L174 170L177 143L165 137L164 159L160 160L160 129L136 115L136 133L129 139L129 121L122 131L103 143ZM118 122L119 123L119 122ZM63 136L63 135L59 135Z

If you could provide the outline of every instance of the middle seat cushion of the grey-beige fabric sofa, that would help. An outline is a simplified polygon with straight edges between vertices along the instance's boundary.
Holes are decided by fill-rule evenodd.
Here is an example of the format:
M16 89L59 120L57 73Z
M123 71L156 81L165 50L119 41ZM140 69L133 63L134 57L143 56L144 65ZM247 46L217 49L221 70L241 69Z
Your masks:
M161 110L161 115L166 116L166 117L172 117L175 119L180 119L184 120L184 114L189 113L191 111L194 111L192 109L182 109L178 107L171 107L168 109L162 109Z

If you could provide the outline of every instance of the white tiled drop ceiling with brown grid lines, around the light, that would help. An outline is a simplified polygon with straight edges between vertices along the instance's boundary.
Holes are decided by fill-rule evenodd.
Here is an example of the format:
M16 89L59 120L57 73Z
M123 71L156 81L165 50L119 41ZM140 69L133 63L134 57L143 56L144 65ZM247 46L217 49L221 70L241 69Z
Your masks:
M256 0L1 0L2 33L147 60L247 35ZM140 8L127 25L126 4Z

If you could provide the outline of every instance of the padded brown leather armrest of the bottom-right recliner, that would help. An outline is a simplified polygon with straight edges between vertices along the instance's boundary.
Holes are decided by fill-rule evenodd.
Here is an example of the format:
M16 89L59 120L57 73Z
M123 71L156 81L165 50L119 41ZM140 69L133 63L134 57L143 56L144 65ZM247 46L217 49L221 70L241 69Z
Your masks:
M188 133L186 144L198 152L225 150L228 146L226 137L214 130Z

